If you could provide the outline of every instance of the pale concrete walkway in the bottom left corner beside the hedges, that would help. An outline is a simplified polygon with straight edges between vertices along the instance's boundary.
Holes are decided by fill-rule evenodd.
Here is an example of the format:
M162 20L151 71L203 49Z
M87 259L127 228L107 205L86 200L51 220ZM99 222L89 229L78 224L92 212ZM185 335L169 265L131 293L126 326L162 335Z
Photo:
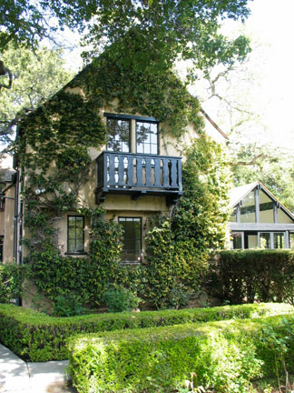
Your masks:
M68 360L26 363L0 344L0 393L75 393L67 366Z

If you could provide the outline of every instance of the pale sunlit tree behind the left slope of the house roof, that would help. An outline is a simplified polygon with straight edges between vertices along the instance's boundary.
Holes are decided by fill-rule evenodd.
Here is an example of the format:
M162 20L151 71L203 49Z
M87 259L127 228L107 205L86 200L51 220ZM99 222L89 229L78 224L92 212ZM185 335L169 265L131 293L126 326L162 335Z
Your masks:
M60 50L41 47L33 52L9 45L2 58L14 76L14 88L0 95L0 140L9 142L18 119L64 86L73 73L65 69Z

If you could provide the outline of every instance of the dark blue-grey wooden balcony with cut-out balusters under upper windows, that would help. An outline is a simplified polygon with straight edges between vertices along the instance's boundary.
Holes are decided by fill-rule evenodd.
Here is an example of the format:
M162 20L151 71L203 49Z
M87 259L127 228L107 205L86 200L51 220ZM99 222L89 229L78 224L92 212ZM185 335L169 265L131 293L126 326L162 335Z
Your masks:
M166 196L167 204L181 195L181 157L105 151L97 158L96 203L107 194Z

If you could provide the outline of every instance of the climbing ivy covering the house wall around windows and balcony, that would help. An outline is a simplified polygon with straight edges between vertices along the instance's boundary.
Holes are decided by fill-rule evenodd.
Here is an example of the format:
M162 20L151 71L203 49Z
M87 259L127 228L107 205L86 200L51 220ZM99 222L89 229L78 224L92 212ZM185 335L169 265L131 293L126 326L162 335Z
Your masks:
M80 196L93 169L87 148L105 144L101 111L140 113L162 121L162 132L181 136L188 124L202 134L198 100L167 69L157 76L125 68L120 58L104 53L44 106L26 116L19 130L17 153L25 168L25 245L30 275L44 296L73 292L101 304L109 283L123 285L151 301L168 305L171 292L200 285L208 250L223 242L225 191L220 147L204 136L187 150L183 168L185 196L170 217L156 218L148 236L148 263L122 267L121 229L106 221ZM80 90L82 89L82 91ZM43 192L36 195L35 189ZM76 211L91 222L87 257L63 257L58 223ZM166 299L166 300L164 300ZM170 302L171 303L171 302Z

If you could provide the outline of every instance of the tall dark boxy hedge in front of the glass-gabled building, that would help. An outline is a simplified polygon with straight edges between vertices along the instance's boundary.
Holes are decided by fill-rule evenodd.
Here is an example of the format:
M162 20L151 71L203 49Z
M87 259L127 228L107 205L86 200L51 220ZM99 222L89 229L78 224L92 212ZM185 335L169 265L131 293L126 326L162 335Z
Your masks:
M291 250L221 250L210 262L212 296L231 304L294 302L294 252Z

